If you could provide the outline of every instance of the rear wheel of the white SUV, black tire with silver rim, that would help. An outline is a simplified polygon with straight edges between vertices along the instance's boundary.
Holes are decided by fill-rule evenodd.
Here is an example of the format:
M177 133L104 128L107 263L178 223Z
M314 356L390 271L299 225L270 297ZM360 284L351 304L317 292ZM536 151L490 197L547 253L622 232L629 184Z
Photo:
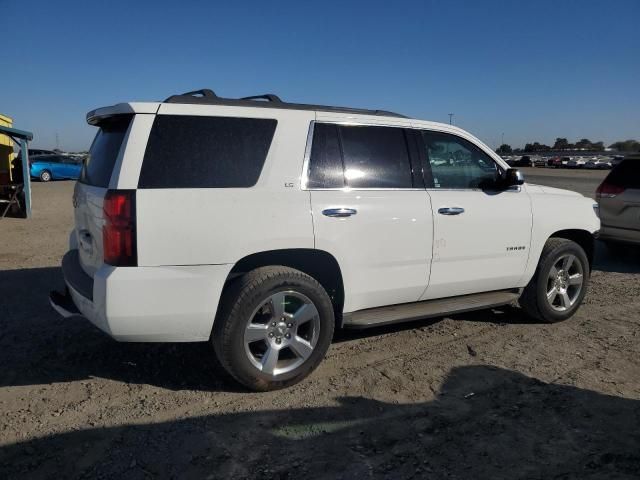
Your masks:
M221 302L213 347L225 370L250 390L298 383L320 364L333 338L331 300L299 270L252 270L227 288Z

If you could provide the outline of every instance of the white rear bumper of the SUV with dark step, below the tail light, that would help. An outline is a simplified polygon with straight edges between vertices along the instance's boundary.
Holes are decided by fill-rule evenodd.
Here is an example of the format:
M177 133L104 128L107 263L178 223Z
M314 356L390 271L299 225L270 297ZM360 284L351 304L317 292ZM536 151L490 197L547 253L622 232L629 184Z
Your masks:
M61 315L81 315L118 341L207 341L231 268L103 265L90 278L71 250L62 262L68 296L54 292L50 302Z

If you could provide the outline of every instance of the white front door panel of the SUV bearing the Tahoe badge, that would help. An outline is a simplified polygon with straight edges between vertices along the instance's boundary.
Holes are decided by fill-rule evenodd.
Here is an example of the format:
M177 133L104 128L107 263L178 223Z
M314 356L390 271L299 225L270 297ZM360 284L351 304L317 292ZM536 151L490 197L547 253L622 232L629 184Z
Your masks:
M525 191L429 189L433 262L422 300L514 288L525 271L531 205ZM445 215L439 210L461 208Z

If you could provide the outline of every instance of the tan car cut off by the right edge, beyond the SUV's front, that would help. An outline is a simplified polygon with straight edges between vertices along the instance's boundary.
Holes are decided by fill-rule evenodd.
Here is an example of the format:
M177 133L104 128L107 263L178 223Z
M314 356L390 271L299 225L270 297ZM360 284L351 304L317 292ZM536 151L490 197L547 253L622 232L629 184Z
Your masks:
M609 172L596 190L599 238L608 245L640 245L640 155L629 156Z

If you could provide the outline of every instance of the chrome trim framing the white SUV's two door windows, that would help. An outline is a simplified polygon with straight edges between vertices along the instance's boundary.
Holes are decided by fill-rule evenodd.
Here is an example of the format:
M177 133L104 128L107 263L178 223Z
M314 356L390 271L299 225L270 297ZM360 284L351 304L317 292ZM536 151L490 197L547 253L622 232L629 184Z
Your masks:
M481 152L485 153L496 164L496 166L499 169L502 169L501 168L502 165L500 165L498 162L496 162L496 160L491 155L489 155L487 152L485 152L482 147L480 147L479 145L476 145L474 142L472 142L469 139L466 139L464 137L461 137L460 135L456 135L455 133L447 132L447 131L444 131L444 130L433 130L433 129L419 127L419 126L400 125L400 124L393 124L393 123L368 123L368 122L358 122L358 121L349 121L349 120L311 120L311 122L309 122L309 131L307 132L307 143L306 143L305 149L304 149L304 160L302 162L302 175L300 177L300 188L301 188L301 190L305 190L305 191L330 191L330 192L361 192L361 191L364 191L364 192L367 192L367 191L369 191L369 192L381 192L381 191L383 191L383 192L384 191L391 191L391 192L393 192L393 191L482 192L483 191L480 188L435 188L435 187L427 187L427 188L353 188L353 187L309 188L307 186L308 181L309 181L309 162L310 162L310 159L311 159L311 147L312 147L312 144L313 144L313 132L314 132L316 123L331 124L331 125L365 126L365 127L392 127L392 128L402 128L402 129L411 129L411 130L419 130L419 131L446 133L448 135L452 135L454 137L461 138L461 139L471 143L473 146L478 148ZM506 191L520 192L521 189L520 189L520 187L518 187L517 190L507 189L507 190L504 190L504 191L505 192Z

